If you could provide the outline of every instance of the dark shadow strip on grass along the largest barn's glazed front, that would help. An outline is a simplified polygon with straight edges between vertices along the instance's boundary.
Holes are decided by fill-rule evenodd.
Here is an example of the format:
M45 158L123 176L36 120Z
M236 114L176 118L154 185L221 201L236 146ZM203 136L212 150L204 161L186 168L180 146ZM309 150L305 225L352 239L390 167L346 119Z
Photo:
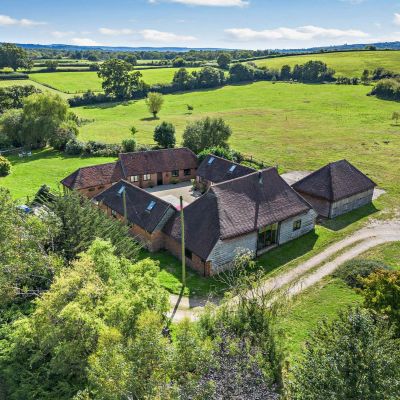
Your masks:
M318 237L317 233L312 231L263 254L257 259L257 264L268 274L311 251Z

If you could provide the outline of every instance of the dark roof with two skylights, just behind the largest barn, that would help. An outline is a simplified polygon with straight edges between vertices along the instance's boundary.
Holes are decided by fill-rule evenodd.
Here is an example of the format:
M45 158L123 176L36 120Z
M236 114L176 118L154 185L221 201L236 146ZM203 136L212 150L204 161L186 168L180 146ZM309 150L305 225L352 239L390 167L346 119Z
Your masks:
M252 172L255 172L253 168L210 154L200 164L197 176L212 183L221 183Z

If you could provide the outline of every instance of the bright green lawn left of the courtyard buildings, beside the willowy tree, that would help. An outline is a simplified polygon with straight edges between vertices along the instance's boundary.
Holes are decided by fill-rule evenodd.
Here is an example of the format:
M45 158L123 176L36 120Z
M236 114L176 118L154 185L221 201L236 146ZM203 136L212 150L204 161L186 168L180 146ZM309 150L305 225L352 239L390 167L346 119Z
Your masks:
M0 186L8 188L21 202L26 201L26 196L33 196L43 184L57 189L62 178L80 167L114 161L108 157L70 157L50 149L34 152L32 157L8 159L12 162L11 174L0 178Z

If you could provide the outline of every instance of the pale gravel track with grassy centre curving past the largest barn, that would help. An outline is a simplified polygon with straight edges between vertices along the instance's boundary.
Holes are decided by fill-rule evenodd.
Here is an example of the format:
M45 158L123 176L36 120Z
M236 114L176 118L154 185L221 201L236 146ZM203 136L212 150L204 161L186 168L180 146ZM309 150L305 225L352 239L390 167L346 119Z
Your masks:
M400 221L374 221L290 271L267 280L258 288L256 295L259 296L289 286L287 293L289 296L293 296L314 285L325 276L332 274L344 262L373 247L395 241L400 241ZM345 250L347 248L349 249ZM333 258L338 253L341 254ZM253 295L249 292L249 296ZM172 318L177 321L185 317L196 319L197 313L207 302L207 299L188 299L187 297L182 297L180 302L177 302L177 300L178 296L171 296L171 305L176 307Z

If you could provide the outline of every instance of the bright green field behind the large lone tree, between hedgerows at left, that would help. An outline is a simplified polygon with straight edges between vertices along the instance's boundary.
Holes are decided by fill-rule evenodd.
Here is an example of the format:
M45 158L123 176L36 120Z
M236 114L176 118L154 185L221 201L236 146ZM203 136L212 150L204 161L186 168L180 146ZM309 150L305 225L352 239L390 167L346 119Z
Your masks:
M140 70L142 79L149 85L170 83L179 68L156 68ZM188 68L194 71L196 68ZM30 79L49 85L64 93L83 93L87 90L101 91L101 79L97 72L48 72L31 74Z

